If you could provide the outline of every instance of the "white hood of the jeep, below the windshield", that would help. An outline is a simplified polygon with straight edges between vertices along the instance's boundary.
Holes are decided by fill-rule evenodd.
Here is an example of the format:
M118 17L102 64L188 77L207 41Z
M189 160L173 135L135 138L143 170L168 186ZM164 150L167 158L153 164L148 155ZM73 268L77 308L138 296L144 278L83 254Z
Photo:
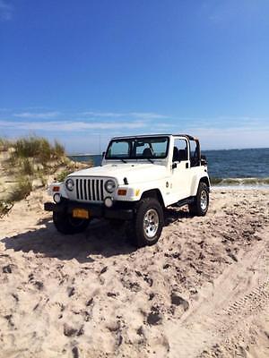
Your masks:
M120 163L107 164L105 166L94 166L89 169L82 169L70 176L104 176L117 179L117 183L123 184L124 178L128 183L142 183L148 180L164 178L167 175L166 166L152 163Z

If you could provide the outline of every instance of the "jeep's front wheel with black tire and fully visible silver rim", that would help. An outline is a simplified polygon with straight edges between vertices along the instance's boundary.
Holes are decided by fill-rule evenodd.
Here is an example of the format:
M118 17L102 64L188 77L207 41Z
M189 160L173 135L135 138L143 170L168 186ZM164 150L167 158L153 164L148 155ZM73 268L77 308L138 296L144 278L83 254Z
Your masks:
M151 246L157 243L163 227L163 209L158 200L144 198L139 201L134 221L128 226L127 235L131 236L136 247Z

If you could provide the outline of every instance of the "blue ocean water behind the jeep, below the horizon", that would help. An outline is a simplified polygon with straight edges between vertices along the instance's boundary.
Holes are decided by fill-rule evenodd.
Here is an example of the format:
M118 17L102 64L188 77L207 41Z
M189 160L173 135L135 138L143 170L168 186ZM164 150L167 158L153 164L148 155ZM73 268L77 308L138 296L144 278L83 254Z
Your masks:
M203 150L215 185L269 185L269 148ZM101 156L70 156L100 166Z

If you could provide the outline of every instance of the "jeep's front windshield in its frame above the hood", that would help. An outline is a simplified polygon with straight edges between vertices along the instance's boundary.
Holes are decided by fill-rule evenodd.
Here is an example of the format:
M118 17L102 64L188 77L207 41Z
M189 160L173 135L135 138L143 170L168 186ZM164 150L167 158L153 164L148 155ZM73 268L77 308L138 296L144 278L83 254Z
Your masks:
M123 138L110 141L106 159L162 159L169 151L169 137Z

